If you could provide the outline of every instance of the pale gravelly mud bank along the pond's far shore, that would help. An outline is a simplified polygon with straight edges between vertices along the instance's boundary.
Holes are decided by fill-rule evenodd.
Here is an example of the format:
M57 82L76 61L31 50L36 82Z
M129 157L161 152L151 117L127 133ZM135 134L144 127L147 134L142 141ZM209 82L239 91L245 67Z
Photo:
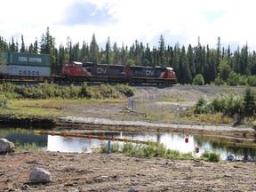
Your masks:
M156 124L141 121L110 120L95 117L60 117L56 126L61 129L93 129L122 132L180 132L189 134L214 135L219 137L233 137L255 139L256 132L253 128L233 127L225 125L200 125L200 124Z

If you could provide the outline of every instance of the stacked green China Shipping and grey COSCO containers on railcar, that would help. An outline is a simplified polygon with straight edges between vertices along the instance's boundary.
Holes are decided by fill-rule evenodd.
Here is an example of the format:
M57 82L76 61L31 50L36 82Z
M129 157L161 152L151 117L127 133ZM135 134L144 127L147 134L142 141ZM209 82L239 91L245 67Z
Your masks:
M51 60L46 54L4 52L2 79L45 81L51 79Z

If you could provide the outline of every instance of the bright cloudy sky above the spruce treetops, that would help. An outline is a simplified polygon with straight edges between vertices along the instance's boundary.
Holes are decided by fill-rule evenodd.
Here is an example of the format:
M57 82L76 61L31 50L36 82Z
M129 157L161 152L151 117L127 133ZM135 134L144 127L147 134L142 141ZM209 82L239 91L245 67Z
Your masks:
M108 37L117 46L135 40L158 47L165 45L216 48L218 36L225 49L246 43L256 50L256 12L253 0L4 0L1 2L0 36L26 45L40 42L46 28L56 46L83 42L92 35L105 49Z

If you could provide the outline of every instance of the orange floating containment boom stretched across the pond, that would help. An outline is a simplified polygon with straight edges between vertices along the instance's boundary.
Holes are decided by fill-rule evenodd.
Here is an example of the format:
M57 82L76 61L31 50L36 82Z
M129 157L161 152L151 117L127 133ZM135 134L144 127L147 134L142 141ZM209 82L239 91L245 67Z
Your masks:
M142 143L142 144L148 144L152 143L152 141L146 141L146 140L129 140L129 139L121 139L121 138L115 138L115 137L105 137L105 136L95 136L95 135L85 135L81 134L79 132L45 132L45 131L34 131L35 134L45 134L45 135L58 135L62 137L82 137L87 138L89 140L96 139L96 140L112 140L112 141L123 141L123 142L133 142L133 143Z

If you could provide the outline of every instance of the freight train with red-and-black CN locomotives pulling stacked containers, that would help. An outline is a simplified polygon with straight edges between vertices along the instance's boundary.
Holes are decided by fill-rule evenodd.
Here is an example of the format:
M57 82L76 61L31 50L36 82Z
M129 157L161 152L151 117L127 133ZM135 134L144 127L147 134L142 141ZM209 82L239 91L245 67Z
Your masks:
M1 58L1 57L0 57ZM2 57L3 58L3 57ZM0 78L36 82L92 82L119 84L176 84L173 68L95 64L71 61L60 75L51 73L50 55L4 52L0 60Z

